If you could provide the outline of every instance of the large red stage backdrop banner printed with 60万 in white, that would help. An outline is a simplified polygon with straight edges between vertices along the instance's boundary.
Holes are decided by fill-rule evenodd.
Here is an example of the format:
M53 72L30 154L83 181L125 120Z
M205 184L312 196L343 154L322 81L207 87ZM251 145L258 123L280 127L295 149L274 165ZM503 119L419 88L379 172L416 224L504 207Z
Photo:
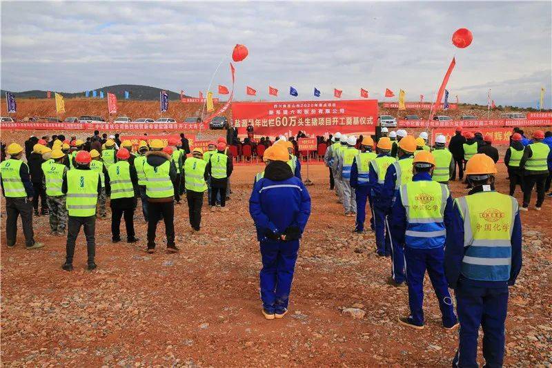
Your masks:
M375 134L377 100L234 102L233 120L239 133L250 123L255 135L308 135L342 133Z

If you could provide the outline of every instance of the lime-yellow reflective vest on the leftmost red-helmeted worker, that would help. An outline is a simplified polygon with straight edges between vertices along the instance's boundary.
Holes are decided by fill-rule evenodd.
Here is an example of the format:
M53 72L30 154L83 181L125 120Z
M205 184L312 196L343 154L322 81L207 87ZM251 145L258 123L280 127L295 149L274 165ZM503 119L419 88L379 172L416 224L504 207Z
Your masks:
M96 215L98 202L97 171L74 168L67 171L66 208L70 216L88 217Z

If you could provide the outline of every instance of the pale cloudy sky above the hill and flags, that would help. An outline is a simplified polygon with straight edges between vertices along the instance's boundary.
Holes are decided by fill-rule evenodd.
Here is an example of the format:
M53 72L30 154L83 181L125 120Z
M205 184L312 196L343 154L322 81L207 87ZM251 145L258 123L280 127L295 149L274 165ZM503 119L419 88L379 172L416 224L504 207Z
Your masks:
M536 106L544 87L544 106L552 103L551 1L2 1L0 12L0 84L15 92L144 84L197 96L213 77L216 96L217 84L231 86L228 62L242 43L239 100L314 99L316 87L320 99L333 99L333 88L356 99L364 88L381 100L390 88L431 101L455 56L452 101L486 104L491 88L497 105ZM457 28L473 32L468 48L451 43Z

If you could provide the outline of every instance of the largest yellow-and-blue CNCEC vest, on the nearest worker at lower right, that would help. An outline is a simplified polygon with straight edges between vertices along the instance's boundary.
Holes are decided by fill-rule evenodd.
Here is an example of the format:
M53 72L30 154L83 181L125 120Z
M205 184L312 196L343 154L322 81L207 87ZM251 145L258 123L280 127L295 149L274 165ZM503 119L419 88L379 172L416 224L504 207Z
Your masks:
M517 200L497 192L479 192L456 198L455 203L464 219L462 275L471 280L509 280Z

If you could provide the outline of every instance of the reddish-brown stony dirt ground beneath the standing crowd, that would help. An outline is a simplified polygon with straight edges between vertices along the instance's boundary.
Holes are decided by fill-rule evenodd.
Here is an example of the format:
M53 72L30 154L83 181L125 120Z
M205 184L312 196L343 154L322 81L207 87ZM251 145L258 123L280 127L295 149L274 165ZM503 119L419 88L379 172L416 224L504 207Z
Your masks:
M139 209L138 244L112 244L110 221L97 221L99 267L92 272L86 271L82 234L69 273L61 270L66 239L48 235L48 217L34 218L36 238L46 244L36 251L23 249L21 232L8 249L2 224L3 365L450 366L457 332L442 329L429 282L425 329L398 325L397 317L408 315L407 291L385 283L390 261L376 256L373 233L352 233L354 219L342 214L322 164L309 168L312 214L290 313L283 320L262 317L259 246L248 214L253 175L261 169L236 166L230 212L211 213L205 205L197 235L190 232L186 202L176 206L177 254L164 251L162 224L157 253L145 252ZM502 193L505 176L500 165ZM455 196L466 193L459 182L452 189ZM551 213L549 198L541 212L522 213L524 266L511 288L506 321L509 366L552 363ZM342 313L347 307L366 315L353 319Z

